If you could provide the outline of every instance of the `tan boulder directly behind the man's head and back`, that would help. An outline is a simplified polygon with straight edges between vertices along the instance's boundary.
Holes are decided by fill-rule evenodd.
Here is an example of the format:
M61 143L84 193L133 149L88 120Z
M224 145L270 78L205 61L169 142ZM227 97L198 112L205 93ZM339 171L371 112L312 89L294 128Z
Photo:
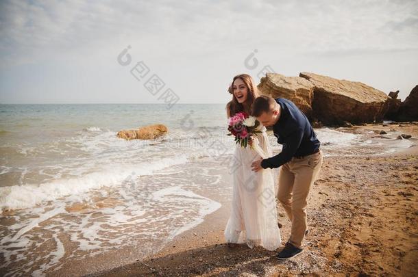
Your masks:
M267 73L261 78L257 88L264 95L292 101L308 117L312 114L314 85L304 78Z

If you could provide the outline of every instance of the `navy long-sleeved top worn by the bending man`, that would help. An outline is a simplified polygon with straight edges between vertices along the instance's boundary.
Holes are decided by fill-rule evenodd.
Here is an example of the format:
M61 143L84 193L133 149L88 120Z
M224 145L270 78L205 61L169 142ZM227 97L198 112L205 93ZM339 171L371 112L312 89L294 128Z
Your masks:
M283 149L278 155L263 159L262 168L278 168L292 157L315 153L321 144L308 118L292 101L284 98L275 98L275 101L282 109L278 122L273 125L273 133Z

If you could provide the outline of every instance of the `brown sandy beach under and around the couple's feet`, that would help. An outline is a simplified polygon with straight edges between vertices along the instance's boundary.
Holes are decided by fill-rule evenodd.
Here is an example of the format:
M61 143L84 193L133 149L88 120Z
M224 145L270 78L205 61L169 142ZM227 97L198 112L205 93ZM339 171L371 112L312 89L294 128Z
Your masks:
M305 251L294 259L279 261L277 251L245 244L228 248L223 228L230 200L218 197L220 209L157 254L89 276L415 276L418 124L367 124L346 131L379 136L391 129L412 135L413 146L384 155L324 159L310 192ZM291 225L280 205L278 214L286 241Z

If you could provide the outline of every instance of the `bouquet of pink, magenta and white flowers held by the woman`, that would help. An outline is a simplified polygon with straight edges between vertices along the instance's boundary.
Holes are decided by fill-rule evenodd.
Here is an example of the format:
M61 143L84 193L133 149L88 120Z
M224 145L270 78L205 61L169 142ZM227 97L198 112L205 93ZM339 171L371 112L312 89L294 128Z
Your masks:
M241 144L246 148L247 145L252 147L252 136L261 131L256 130L260 122L254 116L249 116L244 111L238 112L230 118L228 122L228 135L235 136L235 143Z

